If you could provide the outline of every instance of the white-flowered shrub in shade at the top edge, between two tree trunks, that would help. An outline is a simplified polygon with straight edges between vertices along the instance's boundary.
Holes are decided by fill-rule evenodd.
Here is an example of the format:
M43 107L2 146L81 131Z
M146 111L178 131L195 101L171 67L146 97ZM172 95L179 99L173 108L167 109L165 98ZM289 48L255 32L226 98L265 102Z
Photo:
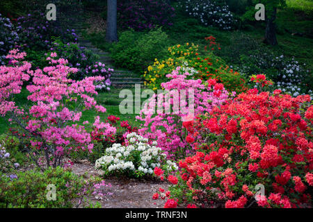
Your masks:
M230 30L234 25L234 17L227 5L218 5L212 0L181 0L178 6L188 15L198 19L202 24Z

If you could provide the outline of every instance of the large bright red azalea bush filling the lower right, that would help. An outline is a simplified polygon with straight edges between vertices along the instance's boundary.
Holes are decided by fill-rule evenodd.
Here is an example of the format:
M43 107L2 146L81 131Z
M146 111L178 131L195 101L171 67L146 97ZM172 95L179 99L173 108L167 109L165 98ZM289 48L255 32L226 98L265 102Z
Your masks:
M200 207L311 207L312 123L308 95L239 94L188 127L201 139L179 162L170 198Z

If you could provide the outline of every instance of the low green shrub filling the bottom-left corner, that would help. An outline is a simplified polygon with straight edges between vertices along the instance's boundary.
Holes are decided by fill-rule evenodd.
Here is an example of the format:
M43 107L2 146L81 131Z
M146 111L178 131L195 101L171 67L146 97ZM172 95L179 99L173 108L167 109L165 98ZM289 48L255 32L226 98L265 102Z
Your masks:
M56 186L56 200L47 200L48 185ZM85 203L83 197L92 192L88 186L83 178L60 167L49 168L43 173L35 170L18 172L13 179L0 172L0 207L78 207L79 203Z

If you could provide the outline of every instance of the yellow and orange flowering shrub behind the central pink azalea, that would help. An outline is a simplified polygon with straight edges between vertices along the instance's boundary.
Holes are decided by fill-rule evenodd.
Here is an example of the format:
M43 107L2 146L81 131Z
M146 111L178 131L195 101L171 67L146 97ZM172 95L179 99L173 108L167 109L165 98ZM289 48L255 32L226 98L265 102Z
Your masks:
M143 74L145 78L145 85L153 90L160 89L161 83L166 81L166 75L170 74L176 67L183 73L188 72L187 78L208 80L209 78L216 78L219 83L223 83L225 88L229 91L236 91L237 93L244 92L247 89L246 80L243 75L230 69L225 64L225 61L220 57L215 56L213 51L216 46L214 37L207 37L210 41L209 48L206 46L203 53L198 53L199 46L195 44L186 43L184 45L177 44L168 48L168 58L166 60L154 60L153 65L147 67ZM209 51L207 49L210 49Z

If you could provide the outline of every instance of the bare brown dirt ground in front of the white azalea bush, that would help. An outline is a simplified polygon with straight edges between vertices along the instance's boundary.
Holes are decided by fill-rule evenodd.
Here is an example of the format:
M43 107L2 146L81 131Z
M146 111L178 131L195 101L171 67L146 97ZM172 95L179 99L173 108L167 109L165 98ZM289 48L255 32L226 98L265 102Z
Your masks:
M75 163L72 172L79 176L85 174L90 176L101 176L102 172L97 171L93 164ZM93 196L92 200L98 201L103 208L163 208L165 201L159 198L153 200L152 195L163 188L167 190L169 184L158 180L138 180L127 178L104 178L107 185L105 196Z

